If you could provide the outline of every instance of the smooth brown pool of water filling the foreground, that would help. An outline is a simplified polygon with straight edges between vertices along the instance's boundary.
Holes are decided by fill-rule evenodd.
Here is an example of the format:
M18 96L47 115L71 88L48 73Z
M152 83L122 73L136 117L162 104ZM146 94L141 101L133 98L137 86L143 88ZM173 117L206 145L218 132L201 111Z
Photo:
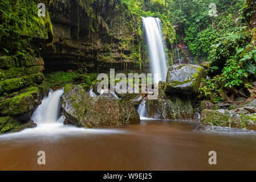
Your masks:
M225 131L223 131L225 130ZM37 163L46 152L46 165ZM209 165L209 151L217 165ZM254 132L198 121L142 121L109 129L65 127L0 135L1 170L256 170Z

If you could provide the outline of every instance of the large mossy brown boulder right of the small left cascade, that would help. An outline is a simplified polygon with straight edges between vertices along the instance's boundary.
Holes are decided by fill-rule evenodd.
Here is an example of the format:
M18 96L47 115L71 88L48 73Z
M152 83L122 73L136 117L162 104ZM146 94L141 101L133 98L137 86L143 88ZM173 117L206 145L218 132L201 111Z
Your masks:
M63 114L78 127L104 127L139 123L136 108L124 100L109 97L90 97L80 85L67 85L62 96Z

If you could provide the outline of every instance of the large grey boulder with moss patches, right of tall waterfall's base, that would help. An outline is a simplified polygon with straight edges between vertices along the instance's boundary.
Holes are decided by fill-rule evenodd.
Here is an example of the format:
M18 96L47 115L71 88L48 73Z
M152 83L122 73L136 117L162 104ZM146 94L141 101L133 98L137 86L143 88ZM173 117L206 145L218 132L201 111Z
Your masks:
M205 69L198 65L173 65L166 76L165 93L195 94L205 77Z

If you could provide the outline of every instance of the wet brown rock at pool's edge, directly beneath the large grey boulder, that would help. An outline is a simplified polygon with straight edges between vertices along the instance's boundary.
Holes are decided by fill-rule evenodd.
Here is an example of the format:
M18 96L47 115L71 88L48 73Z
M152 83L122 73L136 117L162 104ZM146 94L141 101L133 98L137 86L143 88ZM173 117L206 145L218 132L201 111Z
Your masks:
M193 117L190 99L186 96L172 96L169 100L161 98L145 102L147 115L155 119L186 119Z

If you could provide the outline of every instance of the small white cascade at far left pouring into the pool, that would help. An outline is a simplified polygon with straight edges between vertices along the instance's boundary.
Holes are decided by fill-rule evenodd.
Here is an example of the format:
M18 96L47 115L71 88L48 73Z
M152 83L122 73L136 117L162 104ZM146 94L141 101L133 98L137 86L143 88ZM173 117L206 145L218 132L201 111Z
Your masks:
M40 104L31 119L38 124L38 126L46 123L62 123L64 120L63 116L59 116L59 101L64 90L59 89L55 92L50 90L48 97L44 97L42 104Z

